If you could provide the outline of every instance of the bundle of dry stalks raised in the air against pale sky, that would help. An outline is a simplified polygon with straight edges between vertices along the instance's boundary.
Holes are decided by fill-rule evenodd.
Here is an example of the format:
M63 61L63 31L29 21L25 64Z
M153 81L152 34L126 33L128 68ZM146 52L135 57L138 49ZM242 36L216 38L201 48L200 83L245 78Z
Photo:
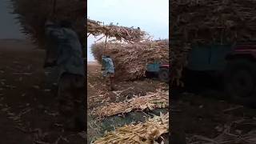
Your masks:
M116 38L116 40L118 41L123 40L126 42L138 42L144 39L146 36L146 32L140 30L139 27L137 29L134 29L133 27L115 26L113 25L113 23L110 23L110 25L104 26L102 25L102 22L98 22L98 21L96 22L88 18L87 18L87 33L88 33L88 36L92 34L94 35L94 37L104 34L103 37Z

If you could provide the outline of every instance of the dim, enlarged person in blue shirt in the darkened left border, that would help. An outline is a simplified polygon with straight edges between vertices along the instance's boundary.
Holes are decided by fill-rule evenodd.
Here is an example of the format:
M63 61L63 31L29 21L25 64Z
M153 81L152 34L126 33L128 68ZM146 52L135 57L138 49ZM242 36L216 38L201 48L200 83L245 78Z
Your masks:
M85 130L86 94L82 46L72 22L45 25L46 62L44 67L58 66L58 109L67 130Z

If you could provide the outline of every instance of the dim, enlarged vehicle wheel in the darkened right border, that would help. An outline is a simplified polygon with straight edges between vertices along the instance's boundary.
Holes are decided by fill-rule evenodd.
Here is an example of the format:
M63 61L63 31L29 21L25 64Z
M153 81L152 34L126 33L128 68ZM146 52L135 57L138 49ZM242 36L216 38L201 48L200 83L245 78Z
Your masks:
M237 59L228 62L225 71L225 90L234 102L246 104L254 101L256 67L254 62Z

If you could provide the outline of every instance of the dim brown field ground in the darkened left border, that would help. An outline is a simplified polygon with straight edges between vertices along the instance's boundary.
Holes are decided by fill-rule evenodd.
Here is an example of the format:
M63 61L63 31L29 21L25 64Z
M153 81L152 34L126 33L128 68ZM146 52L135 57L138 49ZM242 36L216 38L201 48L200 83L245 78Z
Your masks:
M82 134L62 129L44 55L30 42L0 40L0 143L86 143Z

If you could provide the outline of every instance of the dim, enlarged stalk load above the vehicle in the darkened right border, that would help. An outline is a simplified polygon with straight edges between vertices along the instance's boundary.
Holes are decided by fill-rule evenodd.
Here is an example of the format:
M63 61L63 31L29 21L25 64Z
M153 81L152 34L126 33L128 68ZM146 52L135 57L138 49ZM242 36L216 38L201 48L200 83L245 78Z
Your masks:
M173 55L186 57L186 46L256 40L255 0L173 0L170 5ZM182 61L178 58L173 63Z

